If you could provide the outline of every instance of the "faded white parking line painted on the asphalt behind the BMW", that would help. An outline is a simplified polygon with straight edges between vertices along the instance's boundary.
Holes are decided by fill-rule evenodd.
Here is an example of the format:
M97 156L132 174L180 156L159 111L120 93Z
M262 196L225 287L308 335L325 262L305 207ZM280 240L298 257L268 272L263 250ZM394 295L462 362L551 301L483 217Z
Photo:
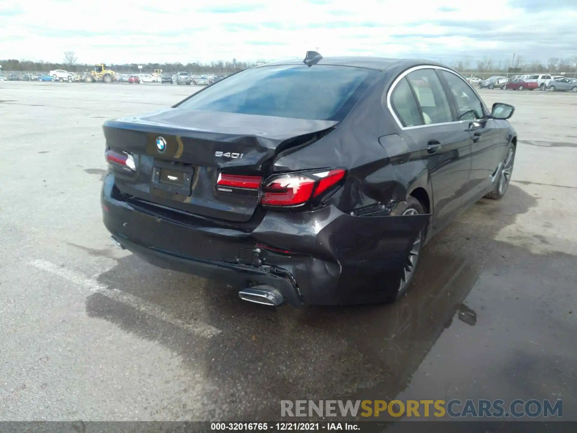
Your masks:
M183 330L189 332L190 334L200 335L201 337L211 338L215 335L220 334L222 331L216 329L201 322L185 322L184 320L174 318L167 312L164 312L158 305L152 304L144 299L141 299L132 294L122 292L118 289L110 289L103 286L98 281L87 278L84 275L77 273L66 267L58 266L54 263L47 262L46 260L33 260L30 262L32 266L35 266L43 271L46 271L53 275L58 275L63 279L66 279L74 284L83 286L92 292L100 293L108 298L111 298L119 303L129 305L130 307L137 309L138 311L147 313L157 319L164 320L165 322L172 323L175 326L182 328Z

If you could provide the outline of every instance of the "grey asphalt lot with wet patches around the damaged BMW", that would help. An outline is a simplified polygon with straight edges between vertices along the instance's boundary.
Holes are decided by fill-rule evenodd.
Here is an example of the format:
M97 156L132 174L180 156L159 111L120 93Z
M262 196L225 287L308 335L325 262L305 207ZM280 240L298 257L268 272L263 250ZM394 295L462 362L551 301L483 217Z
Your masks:
M110 240L102 123L197 87L0 83L0 420L273 420L280 400L563 400L577 420L577 95L516 106L501 201L394 305L278 309Z

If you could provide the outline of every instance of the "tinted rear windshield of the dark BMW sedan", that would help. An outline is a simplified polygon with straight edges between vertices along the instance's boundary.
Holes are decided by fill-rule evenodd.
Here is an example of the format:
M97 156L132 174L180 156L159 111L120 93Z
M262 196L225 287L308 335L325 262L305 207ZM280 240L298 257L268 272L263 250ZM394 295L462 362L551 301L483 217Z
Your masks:
M178 107L341 121L378 73L349 66L260 66L219 81Z

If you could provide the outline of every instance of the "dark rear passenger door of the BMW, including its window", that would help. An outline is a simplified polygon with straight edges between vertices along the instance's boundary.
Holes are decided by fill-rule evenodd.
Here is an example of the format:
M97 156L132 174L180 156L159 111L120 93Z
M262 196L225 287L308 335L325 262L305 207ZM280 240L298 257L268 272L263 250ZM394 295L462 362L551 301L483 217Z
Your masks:
M433 224L443 226L464 203L471 135L463 124L453 121L454 113L434 69L407 74L392 92L391 104L407 139L421 148L433 188Z

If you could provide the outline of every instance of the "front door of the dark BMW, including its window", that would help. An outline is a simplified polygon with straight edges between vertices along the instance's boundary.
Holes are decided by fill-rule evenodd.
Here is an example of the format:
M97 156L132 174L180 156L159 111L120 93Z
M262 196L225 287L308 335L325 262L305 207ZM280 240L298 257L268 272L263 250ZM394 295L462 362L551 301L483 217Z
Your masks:
M471 148L471 172L468 196L473 199L492 183L492 176L499 166L507 148L505 123L488 119L489 110L477 93L457 74L439 70L441 79L447 85L449 96L455 104L456 119L469 130L473 145Z

